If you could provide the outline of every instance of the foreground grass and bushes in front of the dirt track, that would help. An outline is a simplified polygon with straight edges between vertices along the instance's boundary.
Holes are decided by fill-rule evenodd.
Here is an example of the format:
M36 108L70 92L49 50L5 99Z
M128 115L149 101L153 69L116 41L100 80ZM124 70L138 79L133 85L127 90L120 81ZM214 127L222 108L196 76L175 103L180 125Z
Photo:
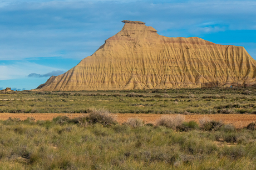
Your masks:
M0 169L255 169L255 123L235 129L182 116L119 124L106 110L0 121ZM176 121L179 121L177 123Z

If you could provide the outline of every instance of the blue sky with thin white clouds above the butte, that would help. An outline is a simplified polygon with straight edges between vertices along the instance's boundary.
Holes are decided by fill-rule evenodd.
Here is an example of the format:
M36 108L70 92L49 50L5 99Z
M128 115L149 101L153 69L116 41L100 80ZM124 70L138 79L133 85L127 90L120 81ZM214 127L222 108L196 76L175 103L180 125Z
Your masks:
M140 20L166 37L239 45L256 59L256 1L0 0L0 89L35 89Z

